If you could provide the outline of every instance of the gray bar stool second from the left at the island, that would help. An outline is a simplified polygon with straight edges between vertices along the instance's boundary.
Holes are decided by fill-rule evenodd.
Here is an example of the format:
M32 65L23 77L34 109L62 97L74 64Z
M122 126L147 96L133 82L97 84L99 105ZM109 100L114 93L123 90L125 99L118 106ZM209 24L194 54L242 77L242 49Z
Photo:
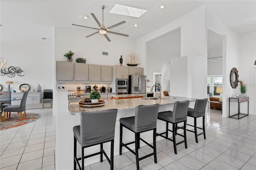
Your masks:
M137 170L140 169L139 161L149 156L154 155L154 161L156 160L156 120L158 115L159 104L154 105L139 105L135 109L135 116L121 118L120 121L120 145L119 154L122 155L122 147L124 146L130 150L136 156ZM135 141L124 144L122 142L123 127L131 130L135 133ZM140 138L140 133L153 130L153 146ZM140 140L146 143L148 146L153 148L154 152L139 158L138 149L140 148ZM135 143L135 152L130 149L127 145Z

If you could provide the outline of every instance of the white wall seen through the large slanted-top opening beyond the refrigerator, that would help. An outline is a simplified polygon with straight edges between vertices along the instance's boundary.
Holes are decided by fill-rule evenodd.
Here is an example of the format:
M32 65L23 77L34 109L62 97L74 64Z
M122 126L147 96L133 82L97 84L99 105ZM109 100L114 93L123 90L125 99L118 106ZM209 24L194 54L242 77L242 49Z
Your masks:
M153 73L162 73L161 91L170 91L170 59L180 57L180 29L147 42L147 86L155 84ZM147 89L149 91L150 88Z

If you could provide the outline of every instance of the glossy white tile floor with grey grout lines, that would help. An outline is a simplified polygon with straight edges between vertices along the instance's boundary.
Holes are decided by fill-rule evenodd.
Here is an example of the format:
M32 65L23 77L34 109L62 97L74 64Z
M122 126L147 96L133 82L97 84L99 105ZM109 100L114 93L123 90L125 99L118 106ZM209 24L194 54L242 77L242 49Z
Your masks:
M41 118L28 125L0 131L1 170L54 170L54 146L56 138L55 117L52 109L30 109ZM72 127L70 127L72 128ZM157 142L157 161L153 156L140 161L142 170L255 170L256 169L256 116L240 120L222 118L221 112L210 110L206 119L206 140L199 136L196 144L194 134L187 132L188 149L178 145L174 154L172 142ZM181 138L179 138L178 140ZM139 155L151 152L140 148ZM114 157L116 170L135 170L135 156L126 152ZM109 170L106 160L85 167L86 170Z

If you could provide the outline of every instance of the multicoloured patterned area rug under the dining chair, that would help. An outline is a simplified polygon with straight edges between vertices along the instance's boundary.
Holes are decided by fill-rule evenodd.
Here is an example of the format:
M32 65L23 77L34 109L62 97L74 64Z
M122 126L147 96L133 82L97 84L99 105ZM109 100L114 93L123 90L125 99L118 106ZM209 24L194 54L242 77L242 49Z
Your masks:
M2 114L4 115L4 114ZM0 130L6 130L8 128L14 128L21 125L26 125L28 123L34 122L39 119L41 116L37 113L26 113L27 117L25 117L24 113L22 113L23 120L20 118L20 114L12 113L10 119L6 118L5 122L0 122Z

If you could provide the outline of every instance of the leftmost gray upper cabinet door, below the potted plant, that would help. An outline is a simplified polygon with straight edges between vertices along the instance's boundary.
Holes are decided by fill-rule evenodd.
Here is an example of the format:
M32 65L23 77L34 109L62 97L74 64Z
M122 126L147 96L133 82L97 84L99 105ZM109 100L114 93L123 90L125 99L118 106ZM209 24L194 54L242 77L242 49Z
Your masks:
M56 80L73 80L74 63L56 61Z

